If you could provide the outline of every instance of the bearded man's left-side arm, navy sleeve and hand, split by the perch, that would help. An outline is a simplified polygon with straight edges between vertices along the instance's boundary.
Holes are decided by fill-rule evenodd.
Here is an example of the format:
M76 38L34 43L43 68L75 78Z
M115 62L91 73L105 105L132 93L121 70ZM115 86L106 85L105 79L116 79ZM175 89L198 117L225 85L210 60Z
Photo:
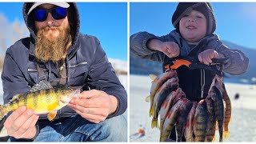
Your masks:
M28 82L14 60L15 55L11 50L7 50L6 58L2 70L2 86L4 91L4 103L10 102L14 94L23 94L29 91ZM35 127L39 116L33 110L20 106L17 110L6 118L4 126L8 135L14 138L34 138L37 134Z

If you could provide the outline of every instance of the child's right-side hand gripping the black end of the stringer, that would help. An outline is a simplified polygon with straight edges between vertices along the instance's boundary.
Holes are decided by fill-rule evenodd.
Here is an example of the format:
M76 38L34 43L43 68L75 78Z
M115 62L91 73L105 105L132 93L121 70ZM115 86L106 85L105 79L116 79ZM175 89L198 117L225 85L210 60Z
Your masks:
M210 65L212 58L222 58L222 54L218 54L216 50L208 49L198 54L198 60L206 65Z

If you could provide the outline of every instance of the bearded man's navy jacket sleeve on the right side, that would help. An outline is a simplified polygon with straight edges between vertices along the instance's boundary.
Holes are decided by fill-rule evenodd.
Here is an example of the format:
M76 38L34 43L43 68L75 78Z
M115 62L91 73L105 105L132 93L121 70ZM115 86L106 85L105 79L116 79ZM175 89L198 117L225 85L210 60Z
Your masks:
M114 114L108 116L108 118L112 118L126 111L127 94L126 90L119 82L111 63L108 62L106 53L102 50L100 42L97 38L94 38L94 40L97 48L94 51L94 56L90 64L88 83L97 90L105 91L106 94L113 95L118 99L117 110Z

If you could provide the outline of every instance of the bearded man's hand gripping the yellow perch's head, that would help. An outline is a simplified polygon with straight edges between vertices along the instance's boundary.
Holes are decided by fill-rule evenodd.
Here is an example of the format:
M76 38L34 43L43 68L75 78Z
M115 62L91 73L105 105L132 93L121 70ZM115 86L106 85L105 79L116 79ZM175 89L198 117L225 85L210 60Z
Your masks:
M68 106L82 118L99 123L114 113L118 107L118 99L101 90L88 90L79 94L79 98L73 98Z

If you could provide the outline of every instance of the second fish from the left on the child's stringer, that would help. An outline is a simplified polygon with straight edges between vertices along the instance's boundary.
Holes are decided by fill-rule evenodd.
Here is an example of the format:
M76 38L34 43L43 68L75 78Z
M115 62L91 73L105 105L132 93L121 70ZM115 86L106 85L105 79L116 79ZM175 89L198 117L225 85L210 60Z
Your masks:
M166 97L168 94L171 94L173 90L176 90L178 88L178 78L170 78L168 81L166 81L162 86L161 90L159 91L157 99L154 100L154 105L153 108L154 110L154 115L153 115L153 121L152 121L152 126L157 126L154 125L156 122L158 122L158 114L162 106L162 102L165 101Z

